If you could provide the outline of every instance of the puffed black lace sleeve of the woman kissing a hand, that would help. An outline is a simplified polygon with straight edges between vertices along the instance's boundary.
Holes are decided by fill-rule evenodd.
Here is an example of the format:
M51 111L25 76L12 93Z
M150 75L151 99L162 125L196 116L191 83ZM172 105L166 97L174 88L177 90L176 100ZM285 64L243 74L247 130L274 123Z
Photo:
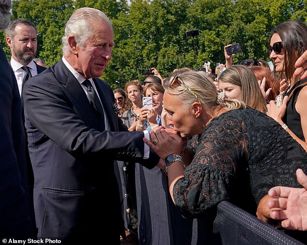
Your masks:
M246 127L235 119L213 120L189 146L195 156L175 183L173 196L185 217L197 217L229 198L237 163L247 164Z

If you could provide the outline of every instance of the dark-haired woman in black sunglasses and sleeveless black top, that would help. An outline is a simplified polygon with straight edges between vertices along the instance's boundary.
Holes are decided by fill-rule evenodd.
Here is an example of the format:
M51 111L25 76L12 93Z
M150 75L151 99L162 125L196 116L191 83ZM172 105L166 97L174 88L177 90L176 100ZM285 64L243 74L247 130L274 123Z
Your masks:
M307 49L307 26L300 21L286 21L272 31L268 48L274 61L274 73L286 78L281 107L270 101L267 114L276 120L307 151L307 79L294 75L295 62Z

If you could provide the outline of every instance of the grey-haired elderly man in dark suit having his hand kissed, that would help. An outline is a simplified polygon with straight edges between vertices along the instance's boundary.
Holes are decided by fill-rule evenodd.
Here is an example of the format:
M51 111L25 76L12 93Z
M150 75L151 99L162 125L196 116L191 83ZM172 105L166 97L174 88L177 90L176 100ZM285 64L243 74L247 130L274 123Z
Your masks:
M109 244L125 237L114 160L153 168L159 157L118 117L103 74L114 46L107 16L77 9L65 25L63 57L23 88L34 171L38 238L65 244ZM98 97L97 97L98 95ZM98 100L98 102L97 102Z

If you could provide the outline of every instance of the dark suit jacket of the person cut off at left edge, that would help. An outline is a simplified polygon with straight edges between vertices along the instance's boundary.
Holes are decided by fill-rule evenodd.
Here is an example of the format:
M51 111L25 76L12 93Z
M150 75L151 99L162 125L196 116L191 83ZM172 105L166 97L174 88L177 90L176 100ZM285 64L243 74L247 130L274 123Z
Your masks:
M21 101L0 46L0 239L33 238Z

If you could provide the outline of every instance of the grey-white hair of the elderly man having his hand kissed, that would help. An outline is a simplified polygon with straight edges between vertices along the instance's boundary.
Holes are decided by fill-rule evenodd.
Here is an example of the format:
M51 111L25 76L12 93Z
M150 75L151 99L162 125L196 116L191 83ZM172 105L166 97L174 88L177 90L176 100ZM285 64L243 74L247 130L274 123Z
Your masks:
M85 41L93 37L92 25L95 22L99 22L101 25L107 24L112 26L107 15L98 9L85 7L77 9L72 14L65 25L65 34L62 37L62 52L64 56L71 53L68 37L74 36L76 43L83 49Z

